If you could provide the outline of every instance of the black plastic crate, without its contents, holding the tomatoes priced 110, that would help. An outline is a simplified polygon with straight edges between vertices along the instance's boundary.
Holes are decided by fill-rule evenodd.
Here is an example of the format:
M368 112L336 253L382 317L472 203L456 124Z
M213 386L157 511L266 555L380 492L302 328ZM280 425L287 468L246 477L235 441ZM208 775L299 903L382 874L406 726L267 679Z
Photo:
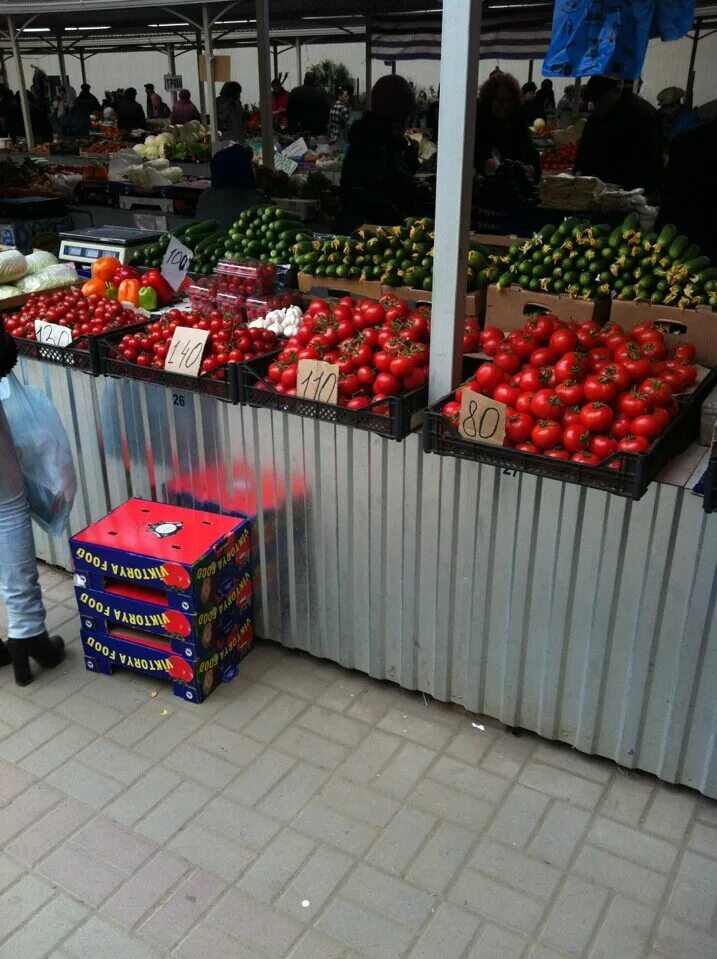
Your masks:
M388 439L402 440L421 423L421 412L428 402L428 387L422 386L403 396L389 396L377 400L363 410L348 410L334 403L321 403L318 400L306 400L298 396L277 393L272 388L266 374L275 354L260 356L249 363L239 364L239 402L248 406L261 406L270 410L280 410L305 416L325 423L337 423L339 426L353 426L355 429L376 433ZM261 386L259 384L262 384ZM383 407L386 413L376 412Z

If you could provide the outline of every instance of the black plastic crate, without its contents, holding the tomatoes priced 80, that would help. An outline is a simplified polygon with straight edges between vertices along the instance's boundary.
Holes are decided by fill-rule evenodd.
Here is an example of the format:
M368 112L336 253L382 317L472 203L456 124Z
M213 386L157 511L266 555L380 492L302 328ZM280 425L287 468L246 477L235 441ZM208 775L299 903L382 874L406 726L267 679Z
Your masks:
M455 456L474 463L487 463L507 472L533 473L561 483L590 486L638 500L664 466L698 436L700 406L715 383L717 370L710 370L692 393L677 397L680 413L662 436L653 441L646 453L619 452L607 457L605 464L619 463L616 468L607 465L584 466L580 463L550 459L536 453L522 453L504 446L474 443L464 439L441 414L443 405L452 399L452 393L424 412L423 448L425 452L438 453L439 456Z

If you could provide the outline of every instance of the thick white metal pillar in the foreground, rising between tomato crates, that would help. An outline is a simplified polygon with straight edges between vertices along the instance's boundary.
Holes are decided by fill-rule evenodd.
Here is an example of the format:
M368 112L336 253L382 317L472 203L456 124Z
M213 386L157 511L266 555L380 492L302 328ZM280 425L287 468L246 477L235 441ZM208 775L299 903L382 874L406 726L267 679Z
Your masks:
M443 6L430 403L453 389L460 376L482 5L482 0L451 0L450 15L449 5Z

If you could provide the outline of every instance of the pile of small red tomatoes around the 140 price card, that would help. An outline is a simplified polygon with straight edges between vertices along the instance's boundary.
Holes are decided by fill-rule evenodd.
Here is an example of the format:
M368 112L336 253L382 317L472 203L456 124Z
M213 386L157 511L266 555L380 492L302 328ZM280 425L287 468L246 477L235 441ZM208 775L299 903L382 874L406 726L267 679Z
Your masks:
M139 332L123 336L117 351L128 363L164 369L169 344L178 326L209 330L201 372L223 380L228 363L244 363L277 348L277 337L270 330L249 329L241 320L223 316L214 310L183 312L169 310Z

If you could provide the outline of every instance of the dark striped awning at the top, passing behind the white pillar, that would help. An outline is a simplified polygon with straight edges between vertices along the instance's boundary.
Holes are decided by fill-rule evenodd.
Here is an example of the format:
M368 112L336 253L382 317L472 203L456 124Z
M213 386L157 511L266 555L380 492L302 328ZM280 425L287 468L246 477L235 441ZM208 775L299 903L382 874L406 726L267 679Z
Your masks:
M482 60L541 60L545 56L550 44L551 6L520 7L516 5L510 12L503 8L484 10L480 34ZM370 29L371 53L375 60L441 58L440 13L375 17Z

